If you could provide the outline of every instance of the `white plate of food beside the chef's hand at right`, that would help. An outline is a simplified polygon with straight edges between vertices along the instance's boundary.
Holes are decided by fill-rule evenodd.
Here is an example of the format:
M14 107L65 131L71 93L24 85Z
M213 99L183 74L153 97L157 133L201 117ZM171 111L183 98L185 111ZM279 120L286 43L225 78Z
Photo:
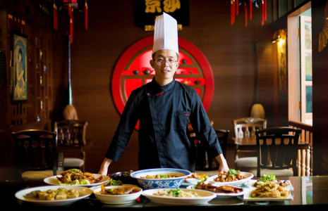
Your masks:
M248 183L250 179L254 177L254 174L249 172L241 172L239 170L230 169L229 172L221 173L218 175L214 175L209 177L207 181L214 181L216 186L224 186L224 185L233 185L233 186L241 186L245 183Z

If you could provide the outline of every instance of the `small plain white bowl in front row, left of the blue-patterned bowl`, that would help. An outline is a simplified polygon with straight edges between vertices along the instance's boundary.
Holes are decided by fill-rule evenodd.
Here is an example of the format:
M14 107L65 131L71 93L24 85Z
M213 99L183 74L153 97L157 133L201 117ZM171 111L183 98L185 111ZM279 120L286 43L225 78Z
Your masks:
M110 188L122 188L123 186L105 186L105 188L110 189ZM111 205L121 205L121 204L128 204L128 203L133 203L137 198L140 197L142 193L142 188L136 187L134 193L129 193L126 195L109 195L109 194L102 194L100 191L102 188L95 188L93 191L93 194L95 197L101 201L102 203L105 204L111 204Z

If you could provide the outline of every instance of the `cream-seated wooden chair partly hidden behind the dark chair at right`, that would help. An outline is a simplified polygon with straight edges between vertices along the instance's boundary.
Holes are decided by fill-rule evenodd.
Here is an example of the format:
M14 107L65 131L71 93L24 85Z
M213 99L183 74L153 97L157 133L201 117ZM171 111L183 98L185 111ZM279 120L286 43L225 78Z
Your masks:
M233 130L235 138L250 138L255 137L255 131L257 129L267 128L267 120L255 117L243 117L233 120ZM243 158L239 158L240 153ZM256 169L257 157L256 151L241 151L236 148L235 151L235 169L241 171L248 171Z

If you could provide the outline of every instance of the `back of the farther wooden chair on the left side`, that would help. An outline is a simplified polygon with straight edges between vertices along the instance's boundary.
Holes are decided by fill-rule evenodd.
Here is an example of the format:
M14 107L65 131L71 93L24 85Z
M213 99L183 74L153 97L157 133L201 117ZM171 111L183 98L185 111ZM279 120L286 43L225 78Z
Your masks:
M54 122L54 131L57 133L56 141L58 144L71 145L87 143L85 134L87 121L63 120Z

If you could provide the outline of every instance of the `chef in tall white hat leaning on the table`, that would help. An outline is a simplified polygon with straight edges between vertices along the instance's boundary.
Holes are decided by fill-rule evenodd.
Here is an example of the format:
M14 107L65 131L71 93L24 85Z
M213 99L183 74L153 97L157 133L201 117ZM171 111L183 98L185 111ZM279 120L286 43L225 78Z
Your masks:
M219 172L228 172L198 93L174 79L179 66L178 27L166 13L155 20L152 53L155 77L130 94L99 174L107 175L111 162L119 161L138 120L139 170L169 167L195 172L195 143L187 136L190 121L207 154L219 162Z

